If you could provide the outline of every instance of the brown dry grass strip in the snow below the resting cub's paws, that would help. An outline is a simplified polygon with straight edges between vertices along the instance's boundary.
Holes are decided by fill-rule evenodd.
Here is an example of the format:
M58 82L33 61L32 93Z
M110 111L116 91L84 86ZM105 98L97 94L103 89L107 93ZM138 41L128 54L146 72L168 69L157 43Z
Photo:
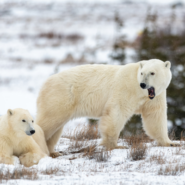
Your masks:
M38 171L32 168L19 167L10 171L9 168L3 167L0 170L0 182L15 179L37 180Z

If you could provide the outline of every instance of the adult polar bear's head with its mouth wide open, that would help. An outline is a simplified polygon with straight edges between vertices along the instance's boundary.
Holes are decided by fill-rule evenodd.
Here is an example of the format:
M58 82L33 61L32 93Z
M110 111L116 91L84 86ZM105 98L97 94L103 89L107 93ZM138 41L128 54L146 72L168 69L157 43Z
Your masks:
M158 59L140 61L137 79L140 88L150 99L161 94L170 84L171 63Z

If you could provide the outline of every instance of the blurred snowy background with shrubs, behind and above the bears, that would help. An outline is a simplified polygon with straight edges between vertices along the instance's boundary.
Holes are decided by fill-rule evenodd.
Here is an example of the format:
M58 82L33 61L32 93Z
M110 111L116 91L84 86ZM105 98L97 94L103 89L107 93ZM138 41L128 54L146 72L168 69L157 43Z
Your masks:
M20 107L35 117L36 99L43 82L50 75L76 65L117 65L143 58L175 61L168 47L157 48L169 53L166 58L148 54L142 48L145 43L142 39L146 27L153 31L166 25L168 30L170 25L171 35L185 33L184 8L182 0L1 0L0 115L9 108ZM156 38L153 36L154 40L163 40ZM176 67L184 71L183 61ZM178 70L174 69L174 75L178 76ZM175 92L178 98L181 95L182 103L184 82L177 84L181 84L177 89L182 91ZM176 95L173 98L178 99ZM173 103L173 98L168 101ZM180 127L180 131L185 125L184 105L173 104L175 109L170 109L174 116L169 126Z

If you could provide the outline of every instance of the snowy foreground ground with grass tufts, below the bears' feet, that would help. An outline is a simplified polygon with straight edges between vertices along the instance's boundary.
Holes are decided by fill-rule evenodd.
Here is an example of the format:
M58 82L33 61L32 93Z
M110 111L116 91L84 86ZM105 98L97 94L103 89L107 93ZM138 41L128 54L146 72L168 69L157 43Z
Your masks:
M61 138L58 150L67 151L71 142ZM90 142L94 141L88 141ZM99 142L99 140L98 140ZM119 144L125 144L119 140ZM156 147L147 144L146 158L133 161L129 158L129 149L117 149L109 153L108 161L97 162L82 154L68 154L59 158L50 157L40 160L38 165L30 167L29 171L36 171L34 180L27 180L22 174L20 180L2 181L7 184L65 184L65 185L184 185L185 184L185 150L184 148ZM0 165L4 174L9 174L22 166ZM15 173L15 172L14 172Z

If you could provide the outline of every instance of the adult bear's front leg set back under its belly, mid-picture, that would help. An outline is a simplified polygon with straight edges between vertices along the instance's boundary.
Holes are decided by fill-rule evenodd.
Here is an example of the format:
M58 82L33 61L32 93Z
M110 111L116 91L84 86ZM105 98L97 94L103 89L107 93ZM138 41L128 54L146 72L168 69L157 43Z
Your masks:
M126 149L127 147L125 146L118 146L117 140L129 117L130 116L124 115L124 113L120 114L120 110L117 108L105 109L99 123L99 129L102 136L100 145L105 146L107 150L119 148Z

